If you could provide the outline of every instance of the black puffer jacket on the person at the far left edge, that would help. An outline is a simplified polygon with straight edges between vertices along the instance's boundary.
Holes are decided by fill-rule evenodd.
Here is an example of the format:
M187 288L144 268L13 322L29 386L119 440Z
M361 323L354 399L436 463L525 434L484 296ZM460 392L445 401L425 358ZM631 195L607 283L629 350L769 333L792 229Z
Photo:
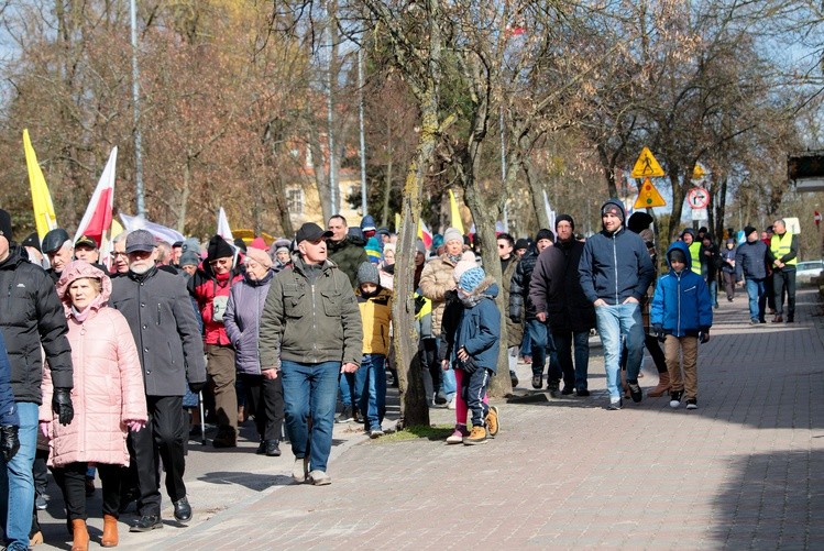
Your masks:
M0 264L0 329L11 362L15 401L42 403L43 357L52 370L55 388L72 388L72 348L66 316L52 278L12 245Z

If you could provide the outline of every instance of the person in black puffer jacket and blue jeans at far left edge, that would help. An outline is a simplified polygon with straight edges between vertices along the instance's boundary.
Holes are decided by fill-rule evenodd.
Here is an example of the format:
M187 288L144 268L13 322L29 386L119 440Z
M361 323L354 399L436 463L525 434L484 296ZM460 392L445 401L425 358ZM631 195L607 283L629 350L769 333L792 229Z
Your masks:
M7 549L28 549L34 510L32 465L37 444L37 408L43 399L41 346L55 387L52 406L61 425L68 425L74 417L74 371L66 316L54 283L14 243L11 217L4 210L0 210L0 330L11 363L11 388L20 418L20 450L11 461L2 461L7 476L0 477L0 517L6 522Z

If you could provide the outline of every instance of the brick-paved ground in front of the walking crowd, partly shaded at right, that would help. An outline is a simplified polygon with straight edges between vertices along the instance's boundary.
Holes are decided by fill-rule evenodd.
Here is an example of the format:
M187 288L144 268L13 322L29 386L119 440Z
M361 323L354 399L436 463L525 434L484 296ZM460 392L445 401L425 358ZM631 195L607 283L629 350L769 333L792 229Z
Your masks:
M502 430L485 445L336 433L326 487L290 484L286 447L276 469L243 473L261 488L238 484L233 505L204 510L210 486L234 484L204 476L189 489L196 522L144 535L121 524L120 547L822 549L824 318L811 290L798 301L798 323L757 327L744 295L722 302L700 350L697 410L663 397L606 410L593 339L592 397L498 403ZM520 365L521 386L528 375Z

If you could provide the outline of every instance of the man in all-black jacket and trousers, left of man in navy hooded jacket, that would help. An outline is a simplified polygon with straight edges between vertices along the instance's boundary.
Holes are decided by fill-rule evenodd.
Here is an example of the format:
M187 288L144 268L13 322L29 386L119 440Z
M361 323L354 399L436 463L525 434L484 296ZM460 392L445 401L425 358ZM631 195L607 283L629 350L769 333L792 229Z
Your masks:
M563 372L561 394L574 390L589 396L586 372L590 364L590 330L595 327L595 309L581 288L578 263L584 244L575 239L575 221L569 214L556 220L558 241L543 250L532 272L529 298L536 318L549 323L558 363ZM572 348L575 364L572 364Z

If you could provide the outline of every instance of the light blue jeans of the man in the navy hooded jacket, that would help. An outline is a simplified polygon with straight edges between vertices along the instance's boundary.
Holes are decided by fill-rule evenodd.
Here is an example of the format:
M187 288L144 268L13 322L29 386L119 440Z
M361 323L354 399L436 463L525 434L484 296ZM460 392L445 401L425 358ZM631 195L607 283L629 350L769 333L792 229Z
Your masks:
M620 338L626 337L627 382L637 383L644 361L644 321L637 302L595 307L595 324L604 348L606 389L609 398L620 398Z

